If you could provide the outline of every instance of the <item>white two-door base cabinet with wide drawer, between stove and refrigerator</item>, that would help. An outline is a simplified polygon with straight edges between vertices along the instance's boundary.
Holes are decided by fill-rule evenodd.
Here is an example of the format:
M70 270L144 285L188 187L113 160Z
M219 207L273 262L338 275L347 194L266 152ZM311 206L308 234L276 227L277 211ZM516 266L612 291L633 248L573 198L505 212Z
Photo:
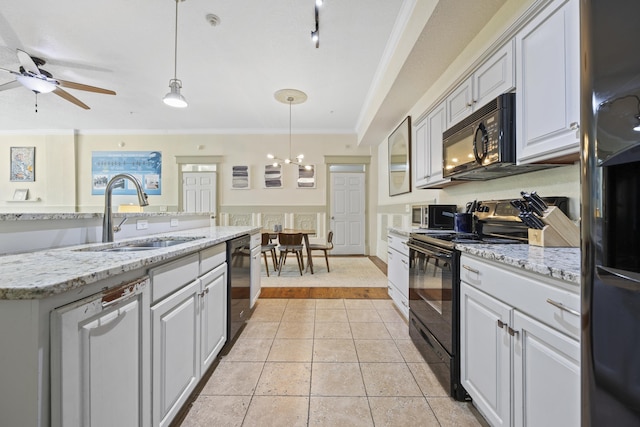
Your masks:
M493 426L580 425L577 289L461 257L461 376Z

